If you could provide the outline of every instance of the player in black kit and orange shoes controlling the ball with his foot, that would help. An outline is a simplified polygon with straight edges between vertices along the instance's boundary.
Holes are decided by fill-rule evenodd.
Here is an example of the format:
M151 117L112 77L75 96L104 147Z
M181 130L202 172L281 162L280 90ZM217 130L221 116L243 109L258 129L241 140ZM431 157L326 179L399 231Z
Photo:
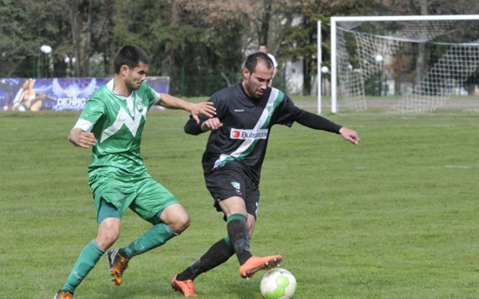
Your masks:
M197 296L193 281L198 275L235 254L242 278L250 278L257 271L273 268L282 261L280 255L257 257L249 251L249 239L256 223L261 165L273 125L291 127L297 122L311 129L339 134L352 144L360 141L355 131L296 107L287 95L268 87L273 69L265 53L250 54L244 63L242 82L210 98L217 114L213 118L200 116L199 124L190 118L185 125L185 132L191 135L211 131L203 154L203 170L214 205L225 214L228 231L226 238L216 242L173 278L172 288L185 297Z

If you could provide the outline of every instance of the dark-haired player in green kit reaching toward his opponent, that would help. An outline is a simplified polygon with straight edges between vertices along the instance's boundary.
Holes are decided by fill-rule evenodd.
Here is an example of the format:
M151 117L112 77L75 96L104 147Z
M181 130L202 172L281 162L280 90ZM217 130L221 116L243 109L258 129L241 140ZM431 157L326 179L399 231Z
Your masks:
M88 167L98 233L80 253L54 299L71 299L100 257L120 235L120 219L127 208L153 226L129 245L107 253L112 281L121 285L128 262L136 255L163 245L190 225L190 216L178 199L147 172L140 156L146 113L153 105L182 109L197 121L213 117L210 102L189 103L159 94L145 81L150 59L136 45L121 47L113 59L114 78L86 102L68 141L93 147Z

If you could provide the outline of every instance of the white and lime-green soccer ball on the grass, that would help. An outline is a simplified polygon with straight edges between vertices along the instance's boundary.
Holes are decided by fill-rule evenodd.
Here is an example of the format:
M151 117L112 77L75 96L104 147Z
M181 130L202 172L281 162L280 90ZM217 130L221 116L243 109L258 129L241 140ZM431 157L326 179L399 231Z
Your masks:
M291 299L296 290L296 279L283 268L273 268L261 278L259 285L265 299Z

